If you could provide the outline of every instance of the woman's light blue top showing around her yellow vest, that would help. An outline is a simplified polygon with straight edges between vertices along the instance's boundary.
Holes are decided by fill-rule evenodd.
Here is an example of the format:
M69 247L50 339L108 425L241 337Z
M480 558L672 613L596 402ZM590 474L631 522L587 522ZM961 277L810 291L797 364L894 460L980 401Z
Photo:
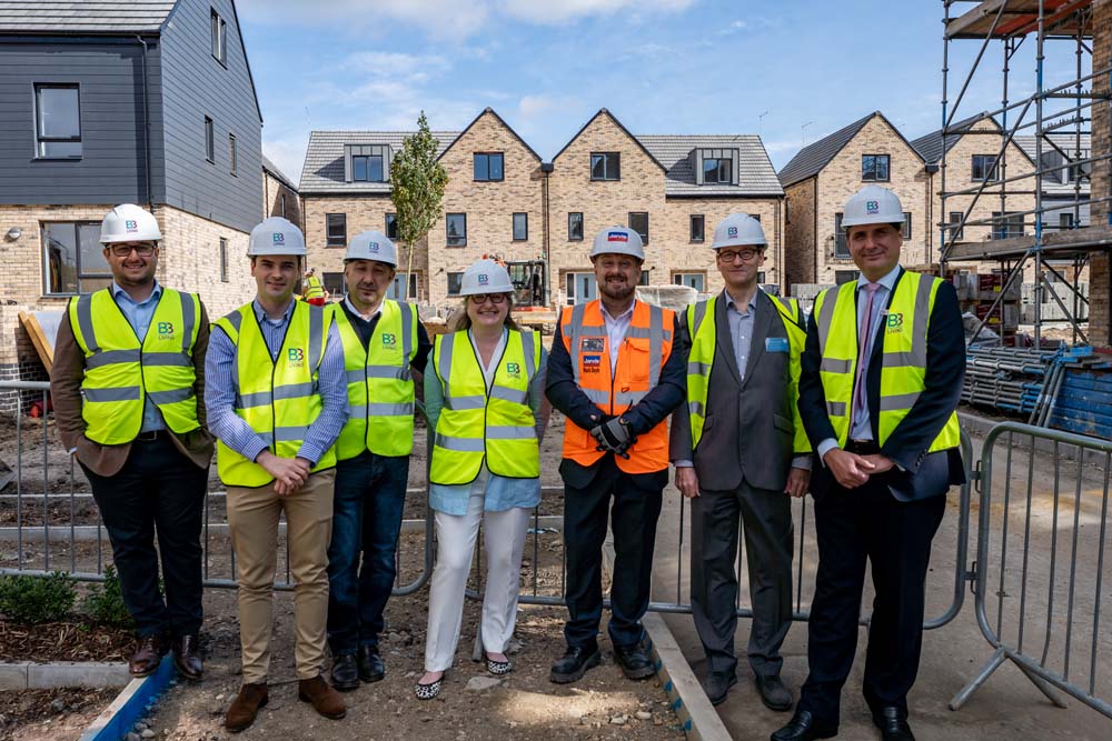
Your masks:
M470 332L468 331L468 337ZM539 339L539 338L538 338ZM503 340L499 348L504 347L506 332L503 331ZM476 358L478 352L476 351ZM496 350L492 356L492 370L500 360L502 351ZM544 347L540 348L540 364L537 374L529 381L529 409L533 410L537 440L544 435L545 427L548 424L547 415L542 414L540 408L545 399L545 369L548 367L548 353ZM484 369L484 375L486 375ZM487 378L487 390L489 391L493 373ZM440 377L433 372L431 357L429 358L429 372L425 373L425 415L428 419L430 430L436 429L436 422L440 419L440 410L444 409L444 387L440 385ZM483 494L483 509L488 512L502 512L515 507L534 508L540 503L540 479L507 479L505 477L489 473L486 461L483 462L483 470L475 481L460 484L429 484L428 503L437 512L460 517L467 514L467 500L473 494Z

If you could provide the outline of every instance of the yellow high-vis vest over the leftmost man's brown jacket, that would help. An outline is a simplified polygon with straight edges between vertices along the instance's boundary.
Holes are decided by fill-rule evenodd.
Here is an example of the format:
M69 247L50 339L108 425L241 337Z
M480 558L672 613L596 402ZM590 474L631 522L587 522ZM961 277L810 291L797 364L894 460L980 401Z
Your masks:
M197 296L163 288L140 341L110 289L70 299L73 339L85 352L81 417L89 440L103 445L135 440L148 400L173 432L199 427L193 392L199 316Z

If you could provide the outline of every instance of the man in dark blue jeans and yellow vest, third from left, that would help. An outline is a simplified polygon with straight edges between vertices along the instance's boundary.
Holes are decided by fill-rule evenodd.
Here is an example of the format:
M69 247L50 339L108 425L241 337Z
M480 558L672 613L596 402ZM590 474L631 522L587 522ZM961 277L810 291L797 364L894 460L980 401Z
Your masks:
M328 643L338 690L386 675L378 637L394 589L409 481L414 373L419 380L431 351L417 308L386 298L397 264L386 234L356 234L344 256L347 296L330 307L344 344L348 399L336 441L328 547Z

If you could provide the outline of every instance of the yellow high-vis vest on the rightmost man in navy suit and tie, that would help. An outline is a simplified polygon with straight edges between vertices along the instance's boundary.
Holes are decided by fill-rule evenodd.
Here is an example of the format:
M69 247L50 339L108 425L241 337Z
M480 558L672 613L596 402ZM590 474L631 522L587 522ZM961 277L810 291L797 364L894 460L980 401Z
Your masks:
M881 398L876 420L877 444L883 445L911 411L925 388L926 337L934 299L942 280L904 271L883 317ZM818 328L818 375L840 445L850 435L850 413L857 372L857 282L823 291L815 300ZM956 448L961 429L956 411L931 443L929 452Z

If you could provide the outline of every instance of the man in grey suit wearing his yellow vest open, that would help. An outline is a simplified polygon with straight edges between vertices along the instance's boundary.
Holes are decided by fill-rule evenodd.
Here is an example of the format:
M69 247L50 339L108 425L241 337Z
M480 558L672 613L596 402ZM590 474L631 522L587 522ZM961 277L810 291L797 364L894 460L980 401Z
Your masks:
M767 246L744 213L714 230L725 290L688 307L681 330L687 408L672 421L676 487L692 500L692 609L706 651L711 702L737 682L738 517L745 524L753 624L748 660L761 699L792 708L781 681L780 647L792 620L792 503L811 478L811 445L800 421L800 358L806 331L798 303L757 286Z

